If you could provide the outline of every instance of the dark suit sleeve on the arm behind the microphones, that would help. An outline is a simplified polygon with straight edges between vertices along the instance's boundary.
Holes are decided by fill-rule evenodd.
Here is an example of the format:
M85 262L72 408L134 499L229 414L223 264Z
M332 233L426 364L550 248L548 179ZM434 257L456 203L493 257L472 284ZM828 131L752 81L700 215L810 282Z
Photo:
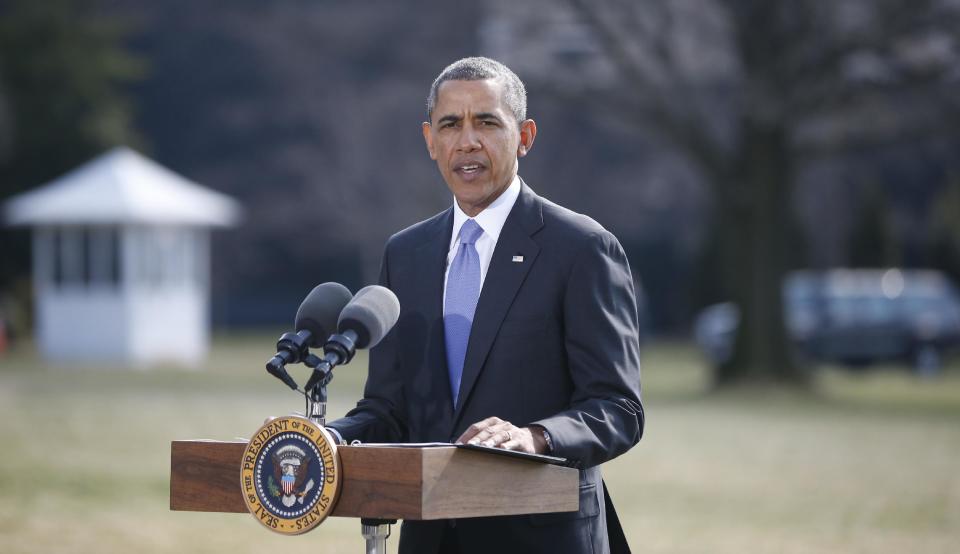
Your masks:
M380 285L390 288L388 252L380 264ZM401 308L402 309L402 308ZM401 314L402 315L402 314ZM403 380L397 358L397 326L370 350L370 368L363 398L344 417L331 422L347 442L404 442L407 440L406 418L401 412Z

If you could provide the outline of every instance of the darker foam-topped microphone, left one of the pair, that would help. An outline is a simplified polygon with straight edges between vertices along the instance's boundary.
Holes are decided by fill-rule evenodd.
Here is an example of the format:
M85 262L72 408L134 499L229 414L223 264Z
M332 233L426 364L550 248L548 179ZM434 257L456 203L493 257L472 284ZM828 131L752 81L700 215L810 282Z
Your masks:
M340 312L353 295L340 283L317 285L300 303L294 320L296 333L284 333L277 341L277 353L267 362L267 372L280 379L288 387L297 390L297 383L284 368L289 363L298 363L307 356L307 349L318 347L324 337L337 328Z

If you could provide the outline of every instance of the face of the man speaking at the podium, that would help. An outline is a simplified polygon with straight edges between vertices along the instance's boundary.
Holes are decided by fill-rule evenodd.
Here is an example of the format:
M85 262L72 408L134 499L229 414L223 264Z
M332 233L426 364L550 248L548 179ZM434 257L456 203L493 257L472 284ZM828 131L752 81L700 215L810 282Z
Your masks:
M473 217L513 181L517 158L533 146L536 124L517 123L496 79L444 82L432 118L423 124L430 158L460 209Z

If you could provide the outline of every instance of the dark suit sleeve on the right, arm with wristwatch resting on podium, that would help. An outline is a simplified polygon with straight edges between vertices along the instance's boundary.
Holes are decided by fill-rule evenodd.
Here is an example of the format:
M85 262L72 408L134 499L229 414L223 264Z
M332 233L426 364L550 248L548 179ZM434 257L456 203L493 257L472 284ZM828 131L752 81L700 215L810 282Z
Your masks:
M532 424L550 433L554 455L592 467L636 444L644 425L636 294L612 234L593 235L577 255L563 324L570 407Z

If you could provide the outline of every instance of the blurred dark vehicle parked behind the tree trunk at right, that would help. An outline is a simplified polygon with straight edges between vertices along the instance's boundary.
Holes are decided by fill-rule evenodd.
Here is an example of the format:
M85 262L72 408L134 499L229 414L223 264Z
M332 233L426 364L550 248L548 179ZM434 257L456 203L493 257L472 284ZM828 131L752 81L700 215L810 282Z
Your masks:
M936 374L960 345L960 294L932 270L796 271L783 283L787 335L801 361L862 367L904 361ZM731 302L705 308L694 336L715 365L733 355L740 311Z

